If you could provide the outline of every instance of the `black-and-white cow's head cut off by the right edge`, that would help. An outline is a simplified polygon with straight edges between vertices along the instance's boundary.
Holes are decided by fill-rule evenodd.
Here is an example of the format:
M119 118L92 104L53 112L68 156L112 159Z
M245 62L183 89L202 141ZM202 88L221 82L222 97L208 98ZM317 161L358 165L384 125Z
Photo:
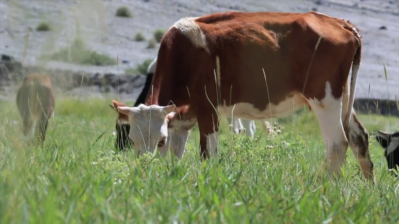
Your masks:
M388 169L397 170L397 166L399 166L399 132L378 131L375 139L385 149L384 155L387 159Z

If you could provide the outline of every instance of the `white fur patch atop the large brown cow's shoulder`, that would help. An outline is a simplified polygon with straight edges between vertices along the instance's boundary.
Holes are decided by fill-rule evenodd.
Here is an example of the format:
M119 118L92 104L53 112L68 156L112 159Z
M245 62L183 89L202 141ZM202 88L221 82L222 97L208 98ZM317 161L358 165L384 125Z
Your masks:
M206 37L203 34L201 28L198 26L197 22L195 21L198 18L199 17L181 18L175 24L173 24L171 28L174 27L179 29L184 35L186 35L186 37L188 37L188 39L190 39L190 41L194 45L196 45L197 47L202 47L203 49L205 49L205 51L210 53L207 46L208 43L206 41Z

